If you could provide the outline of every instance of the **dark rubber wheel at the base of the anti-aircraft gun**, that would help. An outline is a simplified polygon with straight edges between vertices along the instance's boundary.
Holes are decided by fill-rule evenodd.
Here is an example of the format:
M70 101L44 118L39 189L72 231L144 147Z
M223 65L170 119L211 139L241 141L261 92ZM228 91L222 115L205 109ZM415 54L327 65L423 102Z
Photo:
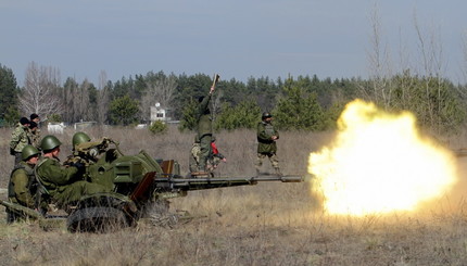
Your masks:
M113 207L76 210L66 220L71 232L110 232L128 226L125 213Z

